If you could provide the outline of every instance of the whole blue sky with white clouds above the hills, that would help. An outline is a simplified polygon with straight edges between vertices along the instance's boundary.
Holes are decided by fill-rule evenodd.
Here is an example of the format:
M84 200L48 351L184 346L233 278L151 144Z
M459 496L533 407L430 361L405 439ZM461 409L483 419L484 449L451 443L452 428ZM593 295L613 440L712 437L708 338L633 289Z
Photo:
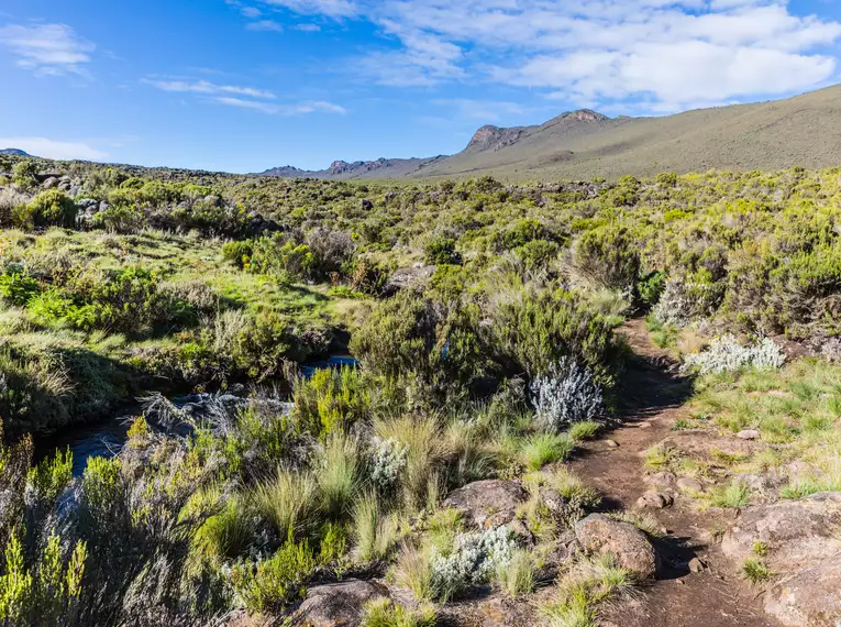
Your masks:
M834 0L3 0L0 147L229 172L838 81Z

